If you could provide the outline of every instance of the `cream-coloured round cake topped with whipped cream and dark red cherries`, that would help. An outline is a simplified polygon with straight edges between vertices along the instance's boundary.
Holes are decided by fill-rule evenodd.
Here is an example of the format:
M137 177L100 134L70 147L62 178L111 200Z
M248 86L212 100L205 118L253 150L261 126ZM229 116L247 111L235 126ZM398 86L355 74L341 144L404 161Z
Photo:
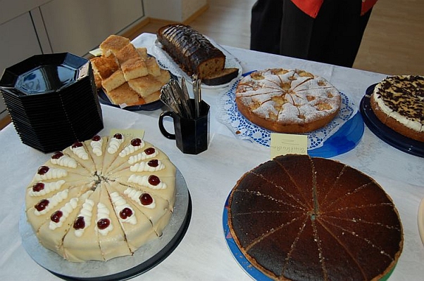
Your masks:
M44 247L68 261L132 255L168 225L175 174L168 156L139 138L76 141L27 186L27 221Z

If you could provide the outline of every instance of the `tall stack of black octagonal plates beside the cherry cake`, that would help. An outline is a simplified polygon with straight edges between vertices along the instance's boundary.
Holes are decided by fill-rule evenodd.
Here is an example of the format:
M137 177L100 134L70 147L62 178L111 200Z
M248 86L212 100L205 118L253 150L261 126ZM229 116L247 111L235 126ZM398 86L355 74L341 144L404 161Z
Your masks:
M26 145L63 150L103 129L89 60L70 53L34 55L8 67L0 91Z

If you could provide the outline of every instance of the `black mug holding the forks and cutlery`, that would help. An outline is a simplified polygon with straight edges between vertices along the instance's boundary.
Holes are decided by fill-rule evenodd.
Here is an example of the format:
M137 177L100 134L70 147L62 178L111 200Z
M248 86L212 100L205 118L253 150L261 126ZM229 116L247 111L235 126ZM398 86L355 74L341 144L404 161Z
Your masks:
M190 99L194 108L194 99ZM166 131L163 118L171 117L174 123L174 133ZM177 148L186 154L199 154L208 149L209 144L209 105L201 100L200 115L195 118L185 118L173 111L164 111L159 116L159 129L166 138L175 140Z

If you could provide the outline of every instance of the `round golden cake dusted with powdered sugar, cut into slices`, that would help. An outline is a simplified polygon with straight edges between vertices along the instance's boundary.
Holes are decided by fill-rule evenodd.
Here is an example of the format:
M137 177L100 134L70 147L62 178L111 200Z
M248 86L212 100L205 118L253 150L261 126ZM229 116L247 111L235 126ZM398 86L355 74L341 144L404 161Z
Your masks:
M279 133L305 133L334 119L342 99L323 77L274 68L243 77L235 101L239 112L258 126Z

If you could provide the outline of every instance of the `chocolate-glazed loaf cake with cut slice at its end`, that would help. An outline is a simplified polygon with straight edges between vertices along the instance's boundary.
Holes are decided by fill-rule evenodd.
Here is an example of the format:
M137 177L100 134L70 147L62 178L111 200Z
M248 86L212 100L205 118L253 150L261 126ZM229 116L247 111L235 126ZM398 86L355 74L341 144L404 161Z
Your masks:
M189 76L197 74L208 85L224 84L237 77L237 68L225 69L224 53L192 27L166 25L156 35L166 53Z

